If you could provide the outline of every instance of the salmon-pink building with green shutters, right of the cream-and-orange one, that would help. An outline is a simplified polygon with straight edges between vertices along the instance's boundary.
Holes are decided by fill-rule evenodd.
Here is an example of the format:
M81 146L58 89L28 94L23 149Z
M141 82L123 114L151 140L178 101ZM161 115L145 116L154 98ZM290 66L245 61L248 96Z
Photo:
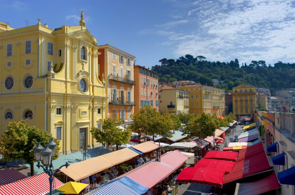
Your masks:
M136 86L134 88L134 101L138 104L134 107L134 112L138 113L139 109L144 105L150 105L159 111L159 95L158 95L158 79L159 73L151 71L145 66L134 66L134 80Z

